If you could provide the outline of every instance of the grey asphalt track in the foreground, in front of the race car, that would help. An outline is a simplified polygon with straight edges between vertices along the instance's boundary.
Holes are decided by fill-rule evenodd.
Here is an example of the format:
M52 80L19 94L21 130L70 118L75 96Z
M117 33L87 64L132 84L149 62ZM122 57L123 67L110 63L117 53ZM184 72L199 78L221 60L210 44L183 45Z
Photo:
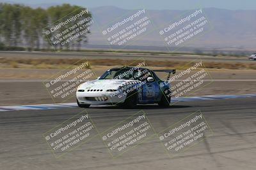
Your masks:
M60 159L51 153L42 134L84 111L3 111L0 113L0 169L255 169L256 97L179 102L170 108L156 105L136 109L88 108L99 132L137 111L147 113L157 132L200 110L214 134L186 152L170 158L159 139L150 138L113 159L99 136Z

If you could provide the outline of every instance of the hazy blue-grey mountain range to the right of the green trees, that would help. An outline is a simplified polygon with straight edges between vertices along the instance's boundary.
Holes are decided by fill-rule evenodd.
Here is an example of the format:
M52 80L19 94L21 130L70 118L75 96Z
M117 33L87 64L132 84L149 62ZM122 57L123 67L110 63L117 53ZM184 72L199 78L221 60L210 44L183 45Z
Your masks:
M125 13L132 13L132 10L123 10L113 6L92 8L93 17L98 25L104 25L113 21L113 18L120 17ZM184 13L191 13L194 10L147 10L150 20L154 25L166 25L171 20L180 18ZM256 46L256 10L223 10L217 8L204 8L206 17L211 22L211 31L203 36L192 39L186 46L200 48L237 48L253 50ZM187 16L187 15L182 15ZM105 45L106 38L97 31L99 27L94 24L90 35L90 44ZM157 31L150 32L147 36L141 36L132 45L163 46L163 38Z

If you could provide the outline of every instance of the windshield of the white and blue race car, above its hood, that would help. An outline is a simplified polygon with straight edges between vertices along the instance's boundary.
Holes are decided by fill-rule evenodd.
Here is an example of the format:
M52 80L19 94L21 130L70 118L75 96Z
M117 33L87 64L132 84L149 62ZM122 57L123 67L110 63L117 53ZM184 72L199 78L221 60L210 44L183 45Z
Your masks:
M145 74L147 74L147 77L151 76L148 69L137 69L135 67L125 69L110 69L106 71L99 79L141 80L141 77Z

